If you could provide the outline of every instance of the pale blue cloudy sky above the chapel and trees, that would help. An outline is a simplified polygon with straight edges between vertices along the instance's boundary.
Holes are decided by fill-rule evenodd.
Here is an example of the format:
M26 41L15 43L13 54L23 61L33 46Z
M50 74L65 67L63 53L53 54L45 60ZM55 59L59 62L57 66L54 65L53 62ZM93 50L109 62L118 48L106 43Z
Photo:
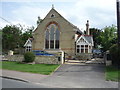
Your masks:
M2 0L0 28L10 23L36 28L37 17L44 19L52 4L64 18L82 31L85 30L87 20L90 28L99 29L116 25L117 22L116 0Z

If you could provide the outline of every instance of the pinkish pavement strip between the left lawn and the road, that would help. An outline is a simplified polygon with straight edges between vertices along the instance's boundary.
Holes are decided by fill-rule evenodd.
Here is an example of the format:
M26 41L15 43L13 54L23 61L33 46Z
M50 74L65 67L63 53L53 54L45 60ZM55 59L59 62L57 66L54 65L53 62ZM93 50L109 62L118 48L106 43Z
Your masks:
M0 72L1 72L1 70L0 70ZM12 70L2 70L2 76L13 77L15 79L20 79L23 81L35 82L35 83L48 77L48 75L33 74L33 73L27 73L27 72L18 72L18 71L12 71Z

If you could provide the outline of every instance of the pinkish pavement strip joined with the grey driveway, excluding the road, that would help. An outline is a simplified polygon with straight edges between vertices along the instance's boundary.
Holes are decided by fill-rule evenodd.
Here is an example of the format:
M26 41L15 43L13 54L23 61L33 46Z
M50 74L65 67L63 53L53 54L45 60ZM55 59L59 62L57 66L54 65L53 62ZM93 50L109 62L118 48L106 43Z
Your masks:
M118 88L118 82L105 81L104 67L100 64L63 64L51 75L2 70L2 76L52 88Z

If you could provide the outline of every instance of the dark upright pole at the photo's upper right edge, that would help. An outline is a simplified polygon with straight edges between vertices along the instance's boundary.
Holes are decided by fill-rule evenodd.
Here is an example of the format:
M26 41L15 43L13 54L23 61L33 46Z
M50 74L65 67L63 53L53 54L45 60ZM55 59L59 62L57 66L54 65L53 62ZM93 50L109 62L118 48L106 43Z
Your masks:
M120 48L120 1L117 0L117 33L118 33L118 48Z

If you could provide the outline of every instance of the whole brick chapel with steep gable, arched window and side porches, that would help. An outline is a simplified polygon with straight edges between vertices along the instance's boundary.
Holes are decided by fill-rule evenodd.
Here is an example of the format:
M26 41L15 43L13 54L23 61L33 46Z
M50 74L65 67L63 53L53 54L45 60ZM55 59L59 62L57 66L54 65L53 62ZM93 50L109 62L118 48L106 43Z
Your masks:
M45 50L50 53L64 52L65 58L74 58L77 53L91 53L93 38L67 21L55 9L49 11L46 17L33 32L33 40L25 43L26 51ZM30 45L31 44L31 45Z

